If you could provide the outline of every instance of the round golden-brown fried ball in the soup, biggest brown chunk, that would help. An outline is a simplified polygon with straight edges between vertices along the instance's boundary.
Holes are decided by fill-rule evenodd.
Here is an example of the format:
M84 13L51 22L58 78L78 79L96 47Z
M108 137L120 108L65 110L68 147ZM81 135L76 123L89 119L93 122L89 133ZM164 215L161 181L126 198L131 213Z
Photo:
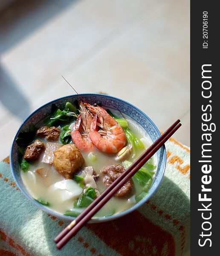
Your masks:
M84 158L75 144L67 144L54 151L54 168L66 179L84 165Z

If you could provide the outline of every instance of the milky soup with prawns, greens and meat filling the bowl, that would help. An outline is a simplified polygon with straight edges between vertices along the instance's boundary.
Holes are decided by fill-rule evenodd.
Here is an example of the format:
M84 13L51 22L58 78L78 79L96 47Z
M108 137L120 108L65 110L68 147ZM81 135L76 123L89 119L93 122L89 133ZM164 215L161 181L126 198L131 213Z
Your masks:
M55 108L16 140L20 175L30 195L74 217L152 144L129 116L84 102L75 105ZM122 212L145 197L156 166L153 156L93 218Z

